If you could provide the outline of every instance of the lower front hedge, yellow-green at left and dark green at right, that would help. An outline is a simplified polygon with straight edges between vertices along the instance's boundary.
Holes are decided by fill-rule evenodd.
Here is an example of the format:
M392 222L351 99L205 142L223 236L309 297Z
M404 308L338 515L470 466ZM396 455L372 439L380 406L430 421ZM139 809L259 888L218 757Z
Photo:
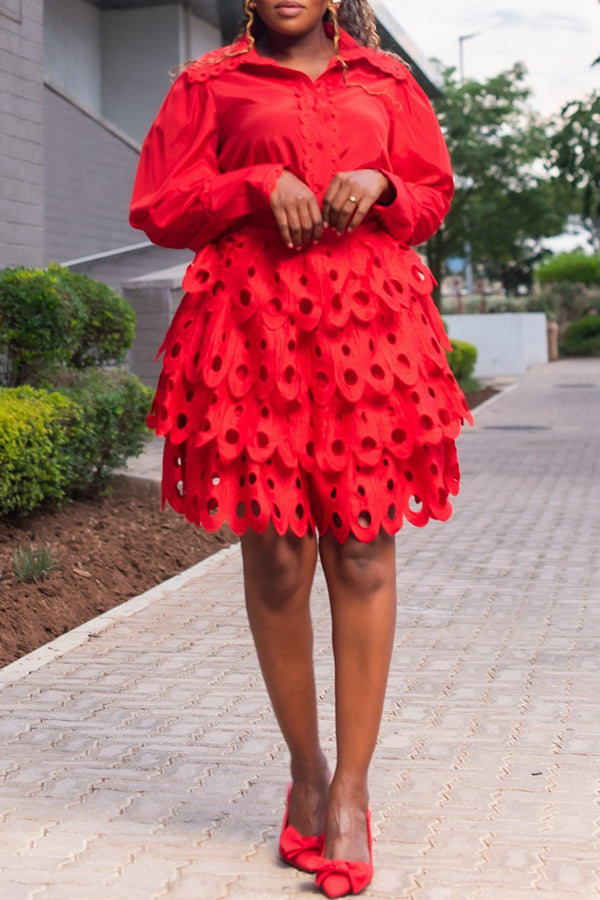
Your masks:
M141 452L151 393L109 371L73 373L53 391L0 388L0 516L102 487Z

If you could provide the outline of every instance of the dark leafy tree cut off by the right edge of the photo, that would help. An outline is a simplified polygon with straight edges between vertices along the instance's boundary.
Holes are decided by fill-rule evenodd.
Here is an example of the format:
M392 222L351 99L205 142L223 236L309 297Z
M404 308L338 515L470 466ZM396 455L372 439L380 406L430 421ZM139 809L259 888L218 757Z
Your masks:
M563 107L554 123L548 168L579 197L578 212L600 251L600 91Z

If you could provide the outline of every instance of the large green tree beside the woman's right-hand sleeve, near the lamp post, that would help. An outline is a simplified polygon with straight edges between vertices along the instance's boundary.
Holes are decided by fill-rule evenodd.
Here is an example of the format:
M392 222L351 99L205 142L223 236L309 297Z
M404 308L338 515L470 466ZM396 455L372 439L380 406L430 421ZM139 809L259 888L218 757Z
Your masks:
M454 69L445 72L444 94L435 107L456 193L444 226L427 244L438 282L444 261L464 256L467 242L473 260L496 274L502 263L529 256L532 243L564 230L566 193L540 161L548 136L527 105L525 75L519 63L484 82L460 84Z

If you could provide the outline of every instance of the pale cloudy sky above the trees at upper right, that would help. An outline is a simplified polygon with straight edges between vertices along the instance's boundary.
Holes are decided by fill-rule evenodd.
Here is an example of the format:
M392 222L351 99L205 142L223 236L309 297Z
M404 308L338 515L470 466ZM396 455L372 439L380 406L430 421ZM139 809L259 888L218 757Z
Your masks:
M386 0L423 53L444 65L459 61L465 77L485 79L525 63L531 105L543 116L600 88L600 0Z

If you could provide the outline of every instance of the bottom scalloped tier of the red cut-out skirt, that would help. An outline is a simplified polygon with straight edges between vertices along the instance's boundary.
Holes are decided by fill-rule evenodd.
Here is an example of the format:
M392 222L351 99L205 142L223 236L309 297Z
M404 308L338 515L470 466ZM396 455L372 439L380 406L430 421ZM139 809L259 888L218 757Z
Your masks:
M331 532L339 543L350 535L368 542L381 530L396 534L404 521L422 527L449 519L459 481L450 439L415 446L407 458L384 452L375 466L354 460L333 472L288 467L277 452L256 462L243 451L227 462L215 441L194 447L167 437L162 496L163 506L207 531L227 523L238 535L262 534L272 523L282 535Z

